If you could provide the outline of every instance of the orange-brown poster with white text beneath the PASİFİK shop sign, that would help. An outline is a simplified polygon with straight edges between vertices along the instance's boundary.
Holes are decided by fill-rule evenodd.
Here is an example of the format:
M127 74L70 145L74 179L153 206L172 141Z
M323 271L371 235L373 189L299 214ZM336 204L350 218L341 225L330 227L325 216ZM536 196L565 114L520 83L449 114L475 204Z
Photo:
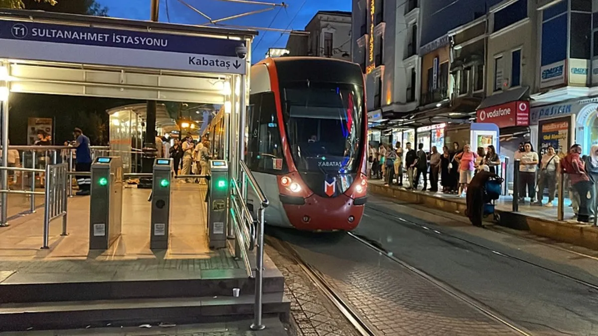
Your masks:
M538 152L544 154L548 146L553 146L560 157L565 157L570 146L570 127L569 117L540 121Z

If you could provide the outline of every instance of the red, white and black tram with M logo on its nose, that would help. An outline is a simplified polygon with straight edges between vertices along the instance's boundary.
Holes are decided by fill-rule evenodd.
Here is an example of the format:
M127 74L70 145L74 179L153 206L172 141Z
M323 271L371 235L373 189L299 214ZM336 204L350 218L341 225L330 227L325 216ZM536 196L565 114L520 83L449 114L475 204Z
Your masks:
M251 67L250 85L245 162L270 201L266 223L307 231L356 228L367 201L359 65L268 58ZM251 193L248 203L260 204Z

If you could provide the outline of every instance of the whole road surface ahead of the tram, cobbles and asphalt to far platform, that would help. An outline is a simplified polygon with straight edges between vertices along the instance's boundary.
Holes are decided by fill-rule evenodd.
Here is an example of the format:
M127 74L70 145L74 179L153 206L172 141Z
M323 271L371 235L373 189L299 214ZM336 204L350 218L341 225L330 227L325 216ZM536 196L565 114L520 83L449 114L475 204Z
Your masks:
M378 242L530 334L598 335L598 290L551 271L598 285L598 260L377 197L370 198L365 214L356 234ZM380 334L513 333L349 235L275 234L291 242L306 262L331 280Z

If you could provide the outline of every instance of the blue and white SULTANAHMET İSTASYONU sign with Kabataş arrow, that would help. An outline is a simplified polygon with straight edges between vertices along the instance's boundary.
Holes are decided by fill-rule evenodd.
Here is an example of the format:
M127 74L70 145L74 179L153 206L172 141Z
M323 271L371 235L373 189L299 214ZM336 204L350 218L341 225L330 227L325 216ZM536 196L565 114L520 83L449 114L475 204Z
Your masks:
M0 57L245 74L242 41L114 28L0 20Z

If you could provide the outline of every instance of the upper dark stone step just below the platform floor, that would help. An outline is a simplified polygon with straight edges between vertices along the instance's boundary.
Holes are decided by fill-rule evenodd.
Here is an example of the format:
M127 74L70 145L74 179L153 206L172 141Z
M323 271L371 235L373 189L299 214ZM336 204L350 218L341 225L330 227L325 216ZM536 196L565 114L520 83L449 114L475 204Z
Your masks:
M0 272L2 273L2 272ZM255 280L245 270L129 272L114 274L19 273L0 277L0 303L117 300L130 298L182 298L241 295L255 292ZM266 268L264 293L284 292L277 268Z

